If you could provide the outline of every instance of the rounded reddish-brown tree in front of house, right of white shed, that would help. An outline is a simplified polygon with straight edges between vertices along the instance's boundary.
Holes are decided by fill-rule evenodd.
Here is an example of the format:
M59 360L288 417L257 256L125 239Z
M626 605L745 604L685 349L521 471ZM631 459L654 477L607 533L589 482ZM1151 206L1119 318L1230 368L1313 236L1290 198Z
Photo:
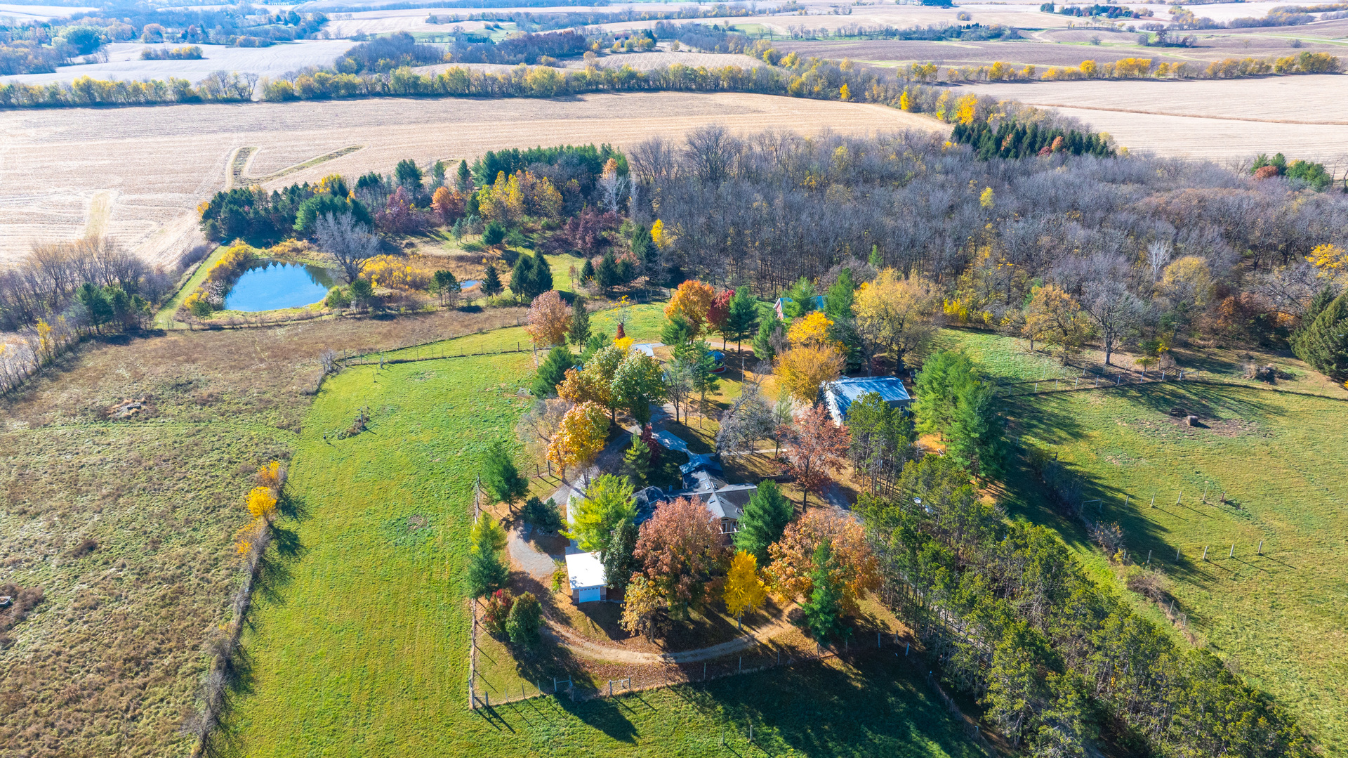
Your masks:
M716 517L696 498L679 498L655 508L632 554L646 579L663 592L670 615L686 619L689 606L701 599L724 560L725 546Z

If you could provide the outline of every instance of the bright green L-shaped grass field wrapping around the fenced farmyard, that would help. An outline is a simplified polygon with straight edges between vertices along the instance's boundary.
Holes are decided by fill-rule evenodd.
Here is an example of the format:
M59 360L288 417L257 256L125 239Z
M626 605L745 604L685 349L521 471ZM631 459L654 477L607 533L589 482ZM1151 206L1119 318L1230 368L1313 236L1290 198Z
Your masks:
M518 339L512 328L466 340ZM756 742L778 755L980 754L917 661L878 654L857 668L805 664L617 700L469 712L472 483L485 449L514 441L530 402L516 390L531 372L531 356L514 353L357 367L325 383L291 465L302 515L280 522L298 548L257 595L229 753L720 755L728 727L743 754L735 730L752 720ZM361 407L368 430L334 438Z

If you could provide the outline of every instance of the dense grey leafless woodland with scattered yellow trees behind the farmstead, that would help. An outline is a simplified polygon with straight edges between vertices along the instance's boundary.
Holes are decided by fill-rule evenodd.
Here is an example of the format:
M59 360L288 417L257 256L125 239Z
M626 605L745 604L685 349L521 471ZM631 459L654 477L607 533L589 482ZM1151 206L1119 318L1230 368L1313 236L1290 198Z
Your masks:
M949 107L962 134L987 123L977 98ZM1037 117L1002 112L991 135L1010 152L1022 128L1060 128ZM1286 345L1316 293L1343 289L1335 256L1312 256L1344 247L1341 193L1211 163L1039 155L1024 139L1033 156L980 159L929 134L704 128L628 151L632 218L663 266L717 286L770 298L803 276L813 297L842 268L853 283L892 268L929 282L918 299L938 317L1053 341L1065 360L1092 337L1107 359L1165 360L1193 339Z

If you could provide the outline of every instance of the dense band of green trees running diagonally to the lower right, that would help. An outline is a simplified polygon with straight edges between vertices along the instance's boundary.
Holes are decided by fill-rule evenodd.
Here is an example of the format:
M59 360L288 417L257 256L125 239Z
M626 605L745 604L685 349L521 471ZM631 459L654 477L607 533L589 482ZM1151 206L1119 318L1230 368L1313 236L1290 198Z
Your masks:
M1282 707L1135 614L1051 530L1006 519L956 461L911 461L895 490L857 508L886 596L1019 751L1314 754Z

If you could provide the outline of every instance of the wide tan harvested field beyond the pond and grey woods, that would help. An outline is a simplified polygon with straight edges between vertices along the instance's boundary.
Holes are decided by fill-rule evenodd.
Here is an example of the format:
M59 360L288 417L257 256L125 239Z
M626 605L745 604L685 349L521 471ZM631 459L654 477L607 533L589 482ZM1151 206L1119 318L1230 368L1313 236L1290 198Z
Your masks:
M946 129L882 105L767 94L631 93L537 100L349 100L11 111L0 113L0 264L34 240L77 237L93 206L106 233L150 260L194 244L195 208L225 189L235 151L256 147L244 178L282 183L390 171L402 158L458 161L501 147L632 146L706 124L849 134ZM313 162L359 147L330 161ZM305 167L298 167L309 163ZM96 196L104 194L100 204ZM105 212L102 209L106 209Z

